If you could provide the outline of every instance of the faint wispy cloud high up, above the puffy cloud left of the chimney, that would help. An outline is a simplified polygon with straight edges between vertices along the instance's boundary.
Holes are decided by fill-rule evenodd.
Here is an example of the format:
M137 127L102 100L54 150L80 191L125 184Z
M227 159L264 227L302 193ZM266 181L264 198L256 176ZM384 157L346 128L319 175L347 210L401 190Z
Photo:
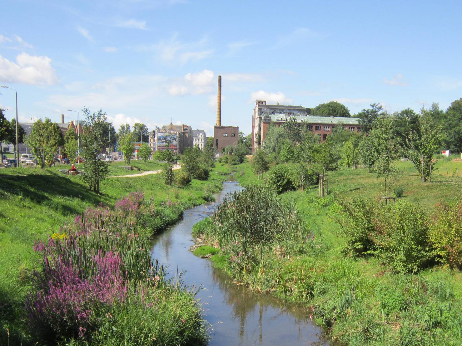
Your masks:
M153 50L156 57L165 63L185 65L189 61L199 61L210 57L213 49L206 49L207 38L197 42L182 43L173 35L169 40L161 40L151 47L141 47L141 50Z

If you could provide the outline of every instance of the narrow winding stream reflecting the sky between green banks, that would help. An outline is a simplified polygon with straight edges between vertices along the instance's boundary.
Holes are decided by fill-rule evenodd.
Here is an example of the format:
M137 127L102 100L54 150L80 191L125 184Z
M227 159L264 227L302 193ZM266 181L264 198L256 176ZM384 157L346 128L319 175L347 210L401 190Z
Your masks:
M225 182L215 203L186 210L181 221L158 234L152 257L168 265L173 275L186 270L183 279L188 285L203 286L196 297L213 326L209 345L327 345L308 309L236 285L209 260L188 251L193 225L211 214L227 193L240 188L237 182Z

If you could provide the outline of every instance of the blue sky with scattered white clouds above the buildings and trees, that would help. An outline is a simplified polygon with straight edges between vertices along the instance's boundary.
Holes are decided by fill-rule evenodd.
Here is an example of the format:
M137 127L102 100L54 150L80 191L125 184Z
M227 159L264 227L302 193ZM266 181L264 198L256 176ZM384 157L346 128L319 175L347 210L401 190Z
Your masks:
M0 84L20 121L102 108L116 128L251 131L255 99L356 113L462 97L461 1L4 1ZM0 89L14 116L14 92Z

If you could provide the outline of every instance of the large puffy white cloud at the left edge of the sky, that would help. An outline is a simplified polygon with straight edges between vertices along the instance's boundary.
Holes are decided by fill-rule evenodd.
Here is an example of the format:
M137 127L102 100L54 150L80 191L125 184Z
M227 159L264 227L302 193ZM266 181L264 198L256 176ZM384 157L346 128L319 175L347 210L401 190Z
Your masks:
M0 79L7 83L53 85L58 83L55 69L48 56L21 53L16 63L0 55Z

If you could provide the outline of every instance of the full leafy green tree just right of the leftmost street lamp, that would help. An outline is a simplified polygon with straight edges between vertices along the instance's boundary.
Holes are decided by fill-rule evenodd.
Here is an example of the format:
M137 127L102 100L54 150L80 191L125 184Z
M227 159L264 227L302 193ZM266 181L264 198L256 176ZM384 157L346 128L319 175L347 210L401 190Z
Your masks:
M26 143L32 148L32 153L40 161L42 167L44 164L51 167L55 162L58 148L64 144L64 138L58 124L45 118L45 121L38 119L32 125L31 133L26 137Z

